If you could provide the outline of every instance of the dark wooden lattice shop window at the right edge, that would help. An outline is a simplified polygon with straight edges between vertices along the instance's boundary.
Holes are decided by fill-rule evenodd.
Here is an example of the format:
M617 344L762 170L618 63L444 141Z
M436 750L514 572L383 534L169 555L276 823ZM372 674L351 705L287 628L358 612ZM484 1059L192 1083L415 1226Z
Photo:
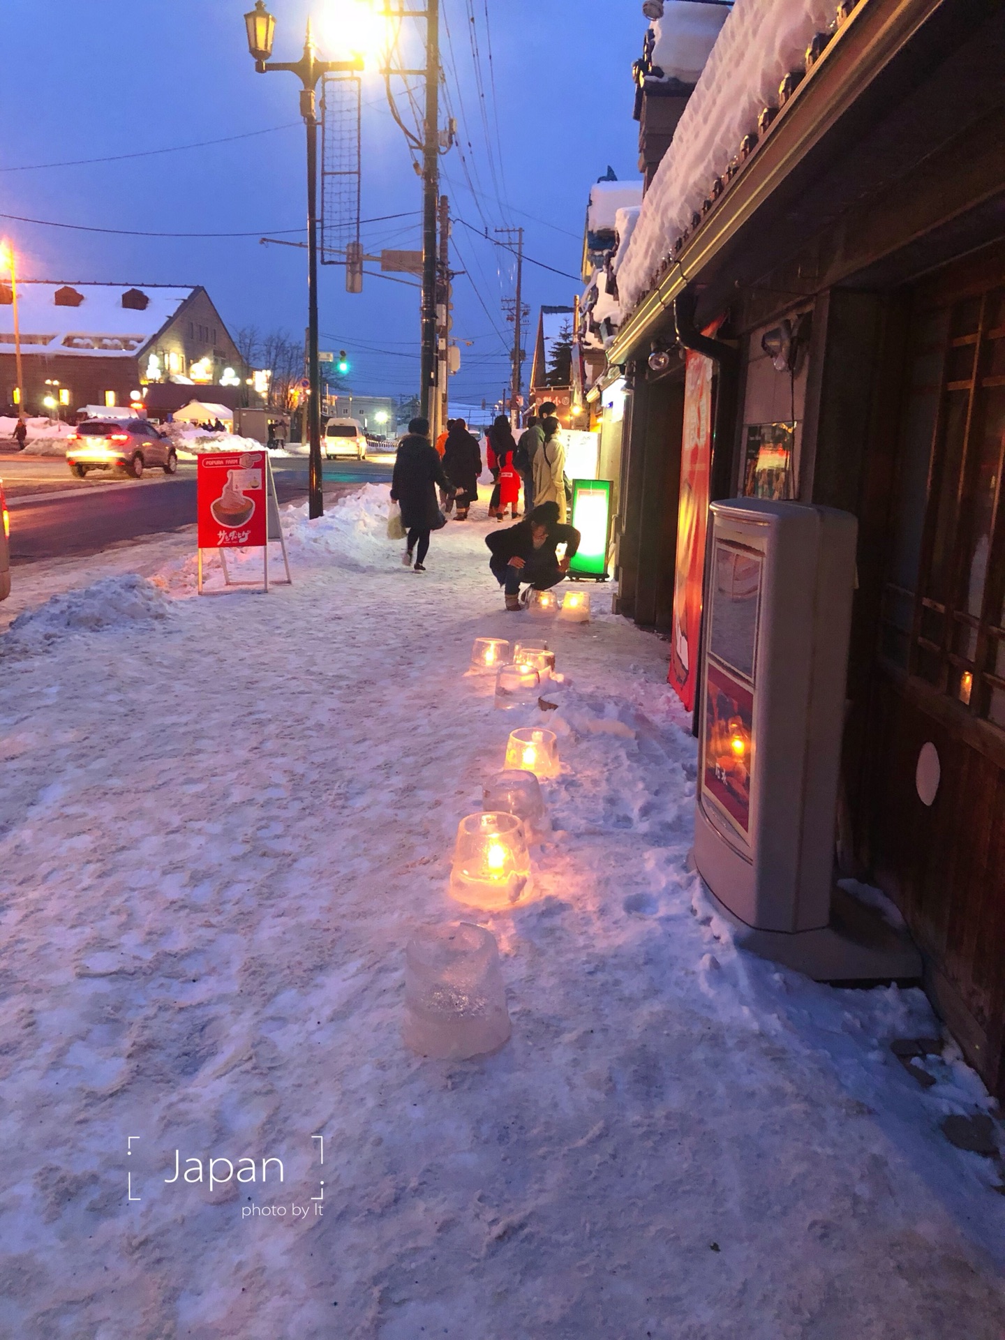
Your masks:
M914 330L880 654L1005 728L1005 289Z

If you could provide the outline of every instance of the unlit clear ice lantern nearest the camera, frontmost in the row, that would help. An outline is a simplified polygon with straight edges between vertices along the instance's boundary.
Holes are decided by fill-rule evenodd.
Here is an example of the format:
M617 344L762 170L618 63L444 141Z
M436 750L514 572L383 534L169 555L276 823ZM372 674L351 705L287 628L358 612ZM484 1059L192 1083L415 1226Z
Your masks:
M497 1051L509 1033L494 935L470 922L417 931L405 949L405 1045L465 1061Z

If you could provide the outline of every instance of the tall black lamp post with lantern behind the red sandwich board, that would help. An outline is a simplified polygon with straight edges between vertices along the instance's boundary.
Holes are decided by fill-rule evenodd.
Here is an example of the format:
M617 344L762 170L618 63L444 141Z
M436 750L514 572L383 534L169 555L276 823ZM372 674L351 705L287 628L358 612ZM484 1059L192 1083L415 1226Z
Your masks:
M307 512L311 519L324 513L322 488L322 378L318 359L318 80L327 74L348 74L362 70L363 60L318 60L311 20L307 20L304 54L296 62L269 60L276 20L265 8L265 0L255 0L255 8L244 16L248 29L248 50L259 74L288 70L299 76L300 115L307 127L307 377L311 383L307 401L307 433L311 444Z

